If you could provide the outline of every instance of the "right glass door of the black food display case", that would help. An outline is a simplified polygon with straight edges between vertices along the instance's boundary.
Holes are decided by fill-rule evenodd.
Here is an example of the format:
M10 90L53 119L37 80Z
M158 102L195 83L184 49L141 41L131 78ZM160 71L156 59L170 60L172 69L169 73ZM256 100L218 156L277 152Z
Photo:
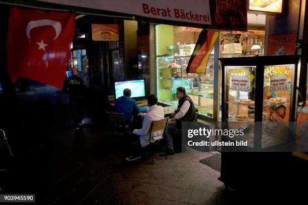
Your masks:
M264 66L262 148L288 142L294 64Z

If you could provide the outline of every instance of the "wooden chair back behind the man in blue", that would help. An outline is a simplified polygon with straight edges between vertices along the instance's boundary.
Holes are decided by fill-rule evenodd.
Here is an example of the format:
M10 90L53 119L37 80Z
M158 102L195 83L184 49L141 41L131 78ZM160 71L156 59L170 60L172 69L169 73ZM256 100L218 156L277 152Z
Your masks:
M123 113L110 113L106 112L108 121L110 123L112 134L114 136L120 134L129 134L128 126L125 125L125 118Z

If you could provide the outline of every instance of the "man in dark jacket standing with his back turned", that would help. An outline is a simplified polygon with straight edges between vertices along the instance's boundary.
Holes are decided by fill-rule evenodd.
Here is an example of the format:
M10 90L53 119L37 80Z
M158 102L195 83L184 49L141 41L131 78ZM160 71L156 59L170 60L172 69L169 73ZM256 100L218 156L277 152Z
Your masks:
M83 106L82 99L86 91L84 80L78 76L78 70L72 70L72 76L64 81L63 89L66 94L69 94L69 104L76 130L83 124Z

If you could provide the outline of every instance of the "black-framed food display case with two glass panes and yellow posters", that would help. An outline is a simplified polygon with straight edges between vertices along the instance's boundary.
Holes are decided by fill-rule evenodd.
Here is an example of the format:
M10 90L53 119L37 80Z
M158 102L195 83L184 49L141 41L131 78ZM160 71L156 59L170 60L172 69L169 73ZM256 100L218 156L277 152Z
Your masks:
M288 144L295 120L297 56L220 58L222 122L248 128L241 140L254 150ZM228 138L226 140L238 140Z

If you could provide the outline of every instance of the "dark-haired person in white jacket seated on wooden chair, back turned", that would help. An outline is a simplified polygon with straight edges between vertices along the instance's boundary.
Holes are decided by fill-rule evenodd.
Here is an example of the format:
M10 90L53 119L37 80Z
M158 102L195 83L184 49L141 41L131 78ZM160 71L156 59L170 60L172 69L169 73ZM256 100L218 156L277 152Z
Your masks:
M149 141L155 142L156 140L163 138L164 130L159 130L152 133L151 139L149 139L149 128L152 121L158 121L164 119L165 113L162 106L157 105L158 98L155 94L150 94L147 96L147 105L149 109L145 114L141 114L143 116L142 128L133 131L132 138L133 141L137 142L137 147L135 147L134 152L137 154L132 154L131 156L127 157L127 161L133 161L139 159L140 155L140 148L145 147L149 144Z

